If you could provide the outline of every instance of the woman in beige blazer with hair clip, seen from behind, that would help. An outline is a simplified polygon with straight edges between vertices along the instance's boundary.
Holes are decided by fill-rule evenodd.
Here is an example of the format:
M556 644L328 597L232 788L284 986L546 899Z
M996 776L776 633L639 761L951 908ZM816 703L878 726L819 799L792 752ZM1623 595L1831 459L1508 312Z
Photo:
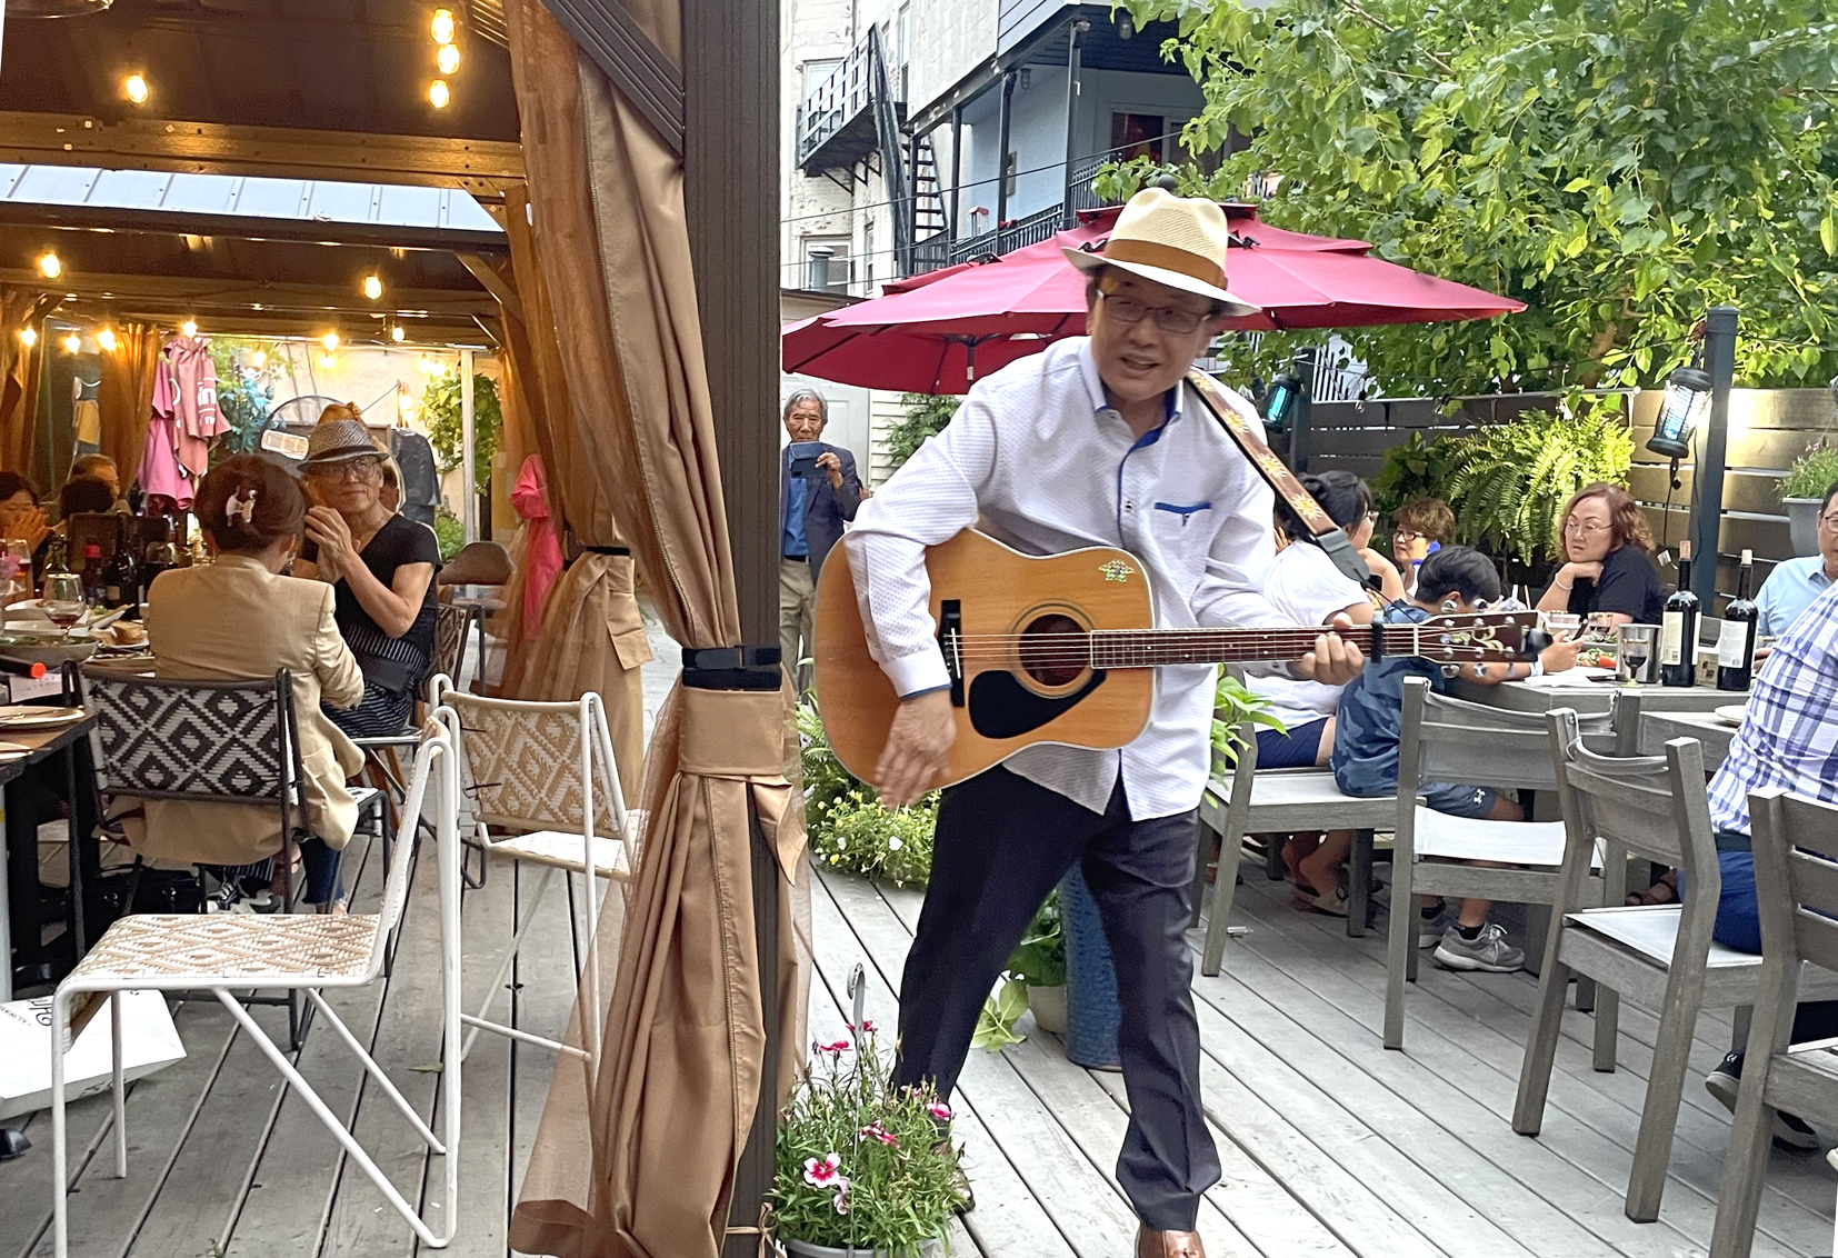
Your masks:
M307 500L294 476L265 458L224 460L199 484L193 511L217 561L160 574L147 594L154 673L184 680L294 679L294 717L307 785L301 844L307 901L338 901L338 850L351 841L357 802L346 778L364 754L320 712L364 697L364 675L333 623L333 589L279 576L300 544ZM237 866L281 852L279 817L244 804L147 802L147 853L165 861Z

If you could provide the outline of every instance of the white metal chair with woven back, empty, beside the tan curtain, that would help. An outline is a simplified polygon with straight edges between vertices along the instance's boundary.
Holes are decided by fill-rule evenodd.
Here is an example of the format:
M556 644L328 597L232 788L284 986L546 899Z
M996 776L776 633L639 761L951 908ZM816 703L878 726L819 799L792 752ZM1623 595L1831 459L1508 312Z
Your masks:
M445 679L441 679L445 680ZM599 877L630 881L636 866L638 837L632 815L619 791L619 771L612 758L612 736L601 697L588 692L575 703L531 703L522 699L483 699L461 690L436 693L436 717L452 732L465 791L472 800L478 841L493 859L528 861L542 866L535 905L542 903L550 879L562 870L570 879L592 872L586 894L584 940L577 949L577 980L586 984L588 1001L597 1008L599 966L594 934L599 927ZM493 837L491 829L513 831ZM458 842L458 835L454 837ZM489 1030L557 1052L599 1059L599 1021L584 1019L588 1048L573 1048L533 1035L505 1023L487 1019L505 977L524 944L524 934L540 914L518 910L511 944L485 988L478 1013L463 1013L471 1028L460 1052L472 1050L478 1032Z

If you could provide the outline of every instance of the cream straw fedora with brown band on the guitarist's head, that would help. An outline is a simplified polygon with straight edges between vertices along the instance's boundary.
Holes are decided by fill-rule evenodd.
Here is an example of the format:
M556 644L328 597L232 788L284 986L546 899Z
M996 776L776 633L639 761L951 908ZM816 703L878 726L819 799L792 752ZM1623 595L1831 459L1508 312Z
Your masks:
M1110 239L1095 250L1066 248L1066 261L1086 274L1116 267L1220 302L1226 314L1255 314L1259 307L1226 291L1230 241L1226 212L1215 202L1145 188L1123 206Z

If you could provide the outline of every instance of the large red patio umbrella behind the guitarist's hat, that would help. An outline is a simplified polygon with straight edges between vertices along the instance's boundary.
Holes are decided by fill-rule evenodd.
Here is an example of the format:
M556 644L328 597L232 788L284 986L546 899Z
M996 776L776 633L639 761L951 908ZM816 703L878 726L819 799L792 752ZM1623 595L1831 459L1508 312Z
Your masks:
M1224 210L1235 245L1228 283L1261 307L1226 320L1233 329L1428 324L1526 309L1373 257L1366 241L1274 228L1250 206ZM886 296L792 324L781 338L783 366L868 388L963 394L974 375L1084 331L1084 276L1061 250L1095 248L1118 212L1083 212L1077 228L1049 241L890 283Z

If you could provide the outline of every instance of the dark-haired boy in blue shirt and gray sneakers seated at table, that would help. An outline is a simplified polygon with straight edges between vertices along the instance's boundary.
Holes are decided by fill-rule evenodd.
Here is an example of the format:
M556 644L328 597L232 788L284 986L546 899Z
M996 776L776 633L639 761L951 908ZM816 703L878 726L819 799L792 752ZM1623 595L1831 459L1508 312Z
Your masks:
M1378 612L1380 623L1421 623L1437 614L1465 614L1483 611L1500 600L1500 574L1492 563L1469 546L1445 546L1417 568L1417 589L1408 601L1391 603ZM1581 642L1559 642L1546 647L1533 664L1463 664L1463 673L1485 686L1503 680L1537 677L1542 671L1562 671L1577 662ZM1402 725L1404 679L1424 677L1441 693L1448 688L1443 666L1428 660L1388 655L1366 664L1366 669L1340 692L1340 715L1334 721L1334 754L1329 761L1334 782L1347 795L1375 798L1397 795L1397 743ZM1524 820L1520 806L1492 787L1424 782L1423 796L1437 813L1485 820ZM1463 899L1450 918L1441 899L1424 896L1417 945L1435 945L1435 960L1452 969L1485 969L1511 973L1526 964L1524 949L1505 942L1505 931L1487 921L1492 901ZM1393 905L1393 912L1408 912Z

